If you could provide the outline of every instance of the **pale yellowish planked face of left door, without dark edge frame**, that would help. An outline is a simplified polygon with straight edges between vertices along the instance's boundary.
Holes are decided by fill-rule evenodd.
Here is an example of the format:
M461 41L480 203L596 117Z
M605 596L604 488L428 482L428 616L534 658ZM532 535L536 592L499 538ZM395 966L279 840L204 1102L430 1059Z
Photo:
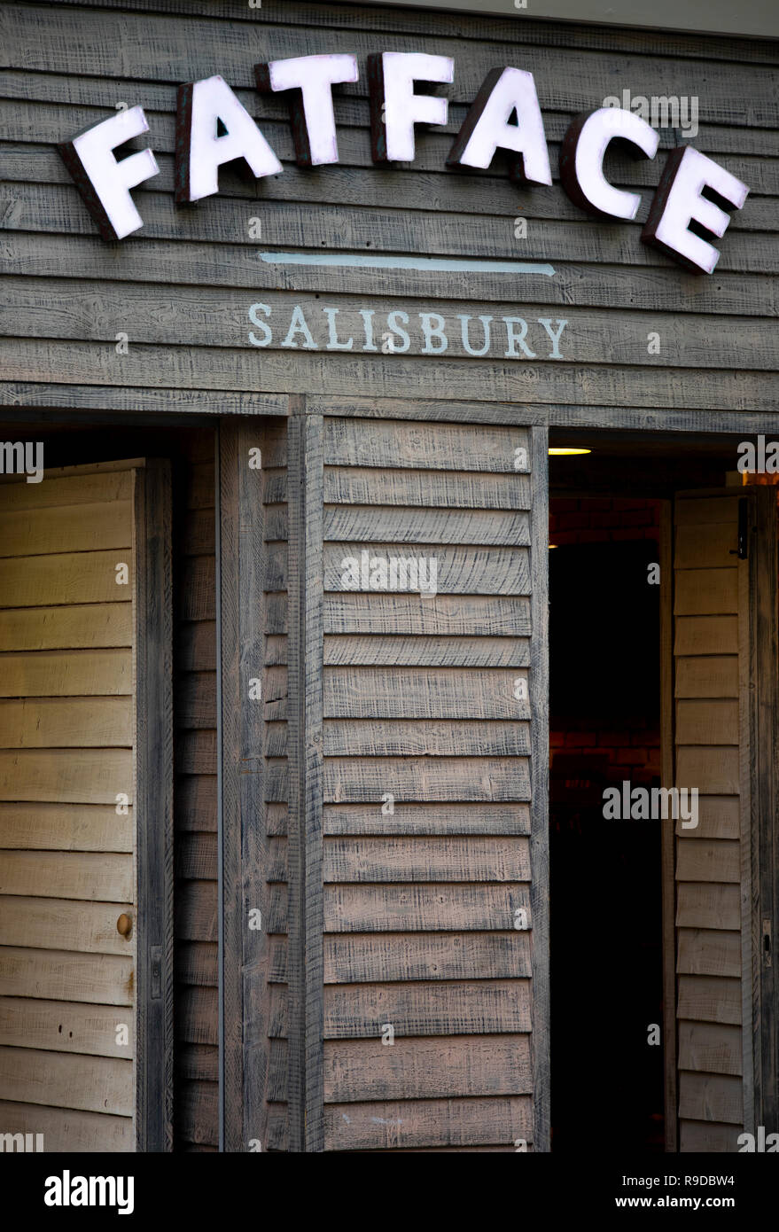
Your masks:
M47 1151L134 1146L133 483L0 484L0 1132Z

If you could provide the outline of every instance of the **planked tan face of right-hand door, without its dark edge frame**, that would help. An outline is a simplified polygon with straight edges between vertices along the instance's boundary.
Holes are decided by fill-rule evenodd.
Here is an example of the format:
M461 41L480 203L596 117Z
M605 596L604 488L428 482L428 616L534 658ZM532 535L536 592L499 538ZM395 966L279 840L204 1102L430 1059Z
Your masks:
M674 510L673 781L700 791L698 825L677 823L679 1149L732 1152L752 1124L748 565L732 554L737 495Z

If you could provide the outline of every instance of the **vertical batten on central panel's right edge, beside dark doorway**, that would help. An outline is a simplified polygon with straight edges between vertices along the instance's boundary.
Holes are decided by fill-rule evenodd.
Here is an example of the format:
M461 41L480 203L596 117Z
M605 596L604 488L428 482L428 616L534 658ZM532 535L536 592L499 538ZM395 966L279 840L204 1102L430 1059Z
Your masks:
M549 938L549 431L530 429L530 914L532 972L534 1151L550 1149L550 938Z

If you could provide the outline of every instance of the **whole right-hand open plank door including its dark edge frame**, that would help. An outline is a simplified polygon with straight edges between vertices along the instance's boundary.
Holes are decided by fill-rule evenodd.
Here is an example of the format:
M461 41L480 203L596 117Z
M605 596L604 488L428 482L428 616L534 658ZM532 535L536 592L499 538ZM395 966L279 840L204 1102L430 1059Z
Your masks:
M679 495L673 586L673 782L700 792L698 828L679 822L675 838L678 1141L737 1151L763 1115L773 1015L768 991L761 1021L757 930L774 811L774 490Z

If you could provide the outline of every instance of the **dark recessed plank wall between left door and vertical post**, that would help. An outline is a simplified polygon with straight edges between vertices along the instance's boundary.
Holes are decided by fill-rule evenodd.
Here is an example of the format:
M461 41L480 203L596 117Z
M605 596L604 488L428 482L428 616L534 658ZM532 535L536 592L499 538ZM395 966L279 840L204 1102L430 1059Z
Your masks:
M174 520L177 1149L216 1149L219 1138L213 468L213 434L187 439L177 468Z

